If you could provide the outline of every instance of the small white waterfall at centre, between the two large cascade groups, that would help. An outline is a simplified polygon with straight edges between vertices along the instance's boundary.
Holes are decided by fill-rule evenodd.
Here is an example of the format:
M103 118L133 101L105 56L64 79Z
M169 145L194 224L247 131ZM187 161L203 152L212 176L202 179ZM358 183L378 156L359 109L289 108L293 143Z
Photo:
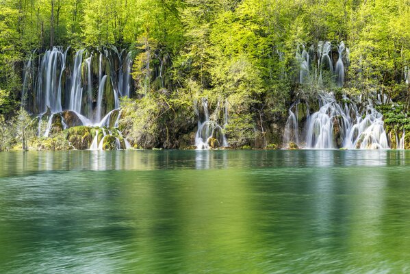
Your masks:
M196 104L195 104L196 105ZM225 108L227 108L227 103L225 103ZM228 142L223 133L222 127L216 122L216 117L214 119L209 118L208 101L207 99L202 100L202 112L195 109L198 115L198 131L195 136L195 146L196 149L211 149L212 145L214 147L227 147ZM217 108L214 114L218 114L220 103L218 102ZM216 116L216 115L212 116ZM227 125L227 110L224 110L224 122ZM211 144L210 142L216 142Z

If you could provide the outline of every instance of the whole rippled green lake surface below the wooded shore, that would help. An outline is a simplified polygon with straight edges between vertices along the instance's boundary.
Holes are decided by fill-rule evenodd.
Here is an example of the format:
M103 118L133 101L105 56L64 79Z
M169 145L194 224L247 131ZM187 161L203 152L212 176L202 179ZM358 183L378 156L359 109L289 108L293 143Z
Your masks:
M410 152L0 153L0 273L409 273Z

